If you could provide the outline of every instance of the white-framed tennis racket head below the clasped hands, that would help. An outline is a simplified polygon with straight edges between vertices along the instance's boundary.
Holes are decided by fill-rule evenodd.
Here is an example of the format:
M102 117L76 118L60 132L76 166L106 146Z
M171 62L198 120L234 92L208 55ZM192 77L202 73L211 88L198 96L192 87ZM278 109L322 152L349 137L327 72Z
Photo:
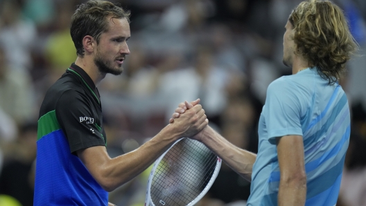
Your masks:
M218 176L221 159L197 140L181 138L154 163L145 206L195 205Z

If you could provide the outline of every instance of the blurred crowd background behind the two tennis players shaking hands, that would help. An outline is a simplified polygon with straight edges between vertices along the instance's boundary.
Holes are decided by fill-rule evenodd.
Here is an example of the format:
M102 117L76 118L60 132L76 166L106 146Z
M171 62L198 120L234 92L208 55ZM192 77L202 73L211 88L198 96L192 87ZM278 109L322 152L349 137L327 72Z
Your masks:
M46 90L76 59L69 35L82 0L0 0L0 205L33 205L37 119ZM98 85L107 150L119 156L166 124L177 104L200 97L214 127L254 153L268 84L282 64L284 26L298 0L123 0L131 55ZM340 83L352 127L338 205L366 205L366 1L334 1L360 44ZM143 205L148 173L110 193ZM223 164L198 205L245 205L250 183Z

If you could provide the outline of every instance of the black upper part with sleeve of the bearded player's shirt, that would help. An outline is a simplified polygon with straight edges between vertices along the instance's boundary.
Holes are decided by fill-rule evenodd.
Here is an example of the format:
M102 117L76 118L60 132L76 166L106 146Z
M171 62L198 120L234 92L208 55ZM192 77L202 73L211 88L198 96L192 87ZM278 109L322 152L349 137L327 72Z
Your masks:
M55 111L71 153L74 153L79 149L105 146L107 140L98 90L82 68L75 64L71 66L73 70L68 68L47 91L40 118Z

